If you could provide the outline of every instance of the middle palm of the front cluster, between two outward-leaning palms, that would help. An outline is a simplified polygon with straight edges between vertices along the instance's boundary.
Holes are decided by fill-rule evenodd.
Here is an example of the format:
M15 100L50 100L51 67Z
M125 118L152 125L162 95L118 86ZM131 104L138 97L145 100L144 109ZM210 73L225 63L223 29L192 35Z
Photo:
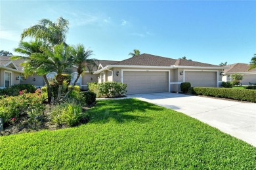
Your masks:
M62 84L65 76L62 73L70 72L70 68L74 63L72 46L66 46L64 43L60 43L53 48L42 48L43 54L33 54L32 58L35 61L43 62L38 69L40 71L47 70L49 72L56 72L56 81L58 82L58 97L56 101L60 100L60 94L62 91ZM45 56L47 56L45 58Z

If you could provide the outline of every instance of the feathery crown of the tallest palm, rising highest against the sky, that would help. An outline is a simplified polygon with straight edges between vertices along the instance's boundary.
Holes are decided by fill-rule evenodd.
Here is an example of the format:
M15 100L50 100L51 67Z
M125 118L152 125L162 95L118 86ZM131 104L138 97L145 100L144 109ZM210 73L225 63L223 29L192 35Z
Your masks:
M24 29L21 35L23 40L25 37L33 37L35 39L49 42L53 45L66 41L66 33L68 33L69 22L61 16L52 22L48 19L42 19L39 24L35 24L28 29Z

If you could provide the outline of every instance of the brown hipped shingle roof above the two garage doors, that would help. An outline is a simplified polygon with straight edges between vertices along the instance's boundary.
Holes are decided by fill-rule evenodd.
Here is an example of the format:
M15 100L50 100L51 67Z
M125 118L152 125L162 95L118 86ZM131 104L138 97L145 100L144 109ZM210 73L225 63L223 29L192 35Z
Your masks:
M141 54L133 58L119 61L114 65L144 65L144 66L194 66L194 67L220 67L219 65L212 65L208 63L200 63L186 59L173 59L154 56L151 54Z

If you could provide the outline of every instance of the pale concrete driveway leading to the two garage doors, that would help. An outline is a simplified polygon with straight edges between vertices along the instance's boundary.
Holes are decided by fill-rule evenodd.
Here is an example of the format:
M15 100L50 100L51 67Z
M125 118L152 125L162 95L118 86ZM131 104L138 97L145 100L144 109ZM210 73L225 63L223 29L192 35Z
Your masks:
M127 96L177 110L256 147L256 103L179 93L146 93Z

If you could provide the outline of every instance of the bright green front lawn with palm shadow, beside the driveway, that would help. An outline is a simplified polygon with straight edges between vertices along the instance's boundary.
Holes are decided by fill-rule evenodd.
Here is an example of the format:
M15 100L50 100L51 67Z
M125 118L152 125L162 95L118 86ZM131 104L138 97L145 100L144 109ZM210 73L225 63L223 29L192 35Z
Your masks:
M174 110L104 100L79 127L0 137L0 169L255 169L256 148Z

